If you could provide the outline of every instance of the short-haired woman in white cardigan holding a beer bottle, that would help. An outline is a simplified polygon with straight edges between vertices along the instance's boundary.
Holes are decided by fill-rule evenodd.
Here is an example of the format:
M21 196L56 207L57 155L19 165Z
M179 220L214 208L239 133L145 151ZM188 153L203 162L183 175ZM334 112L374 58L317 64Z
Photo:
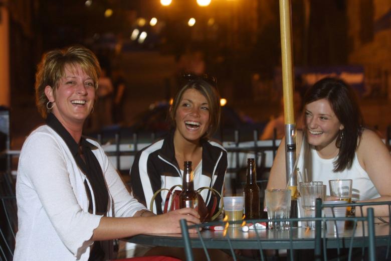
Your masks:
M36 102L46 124L26 139L19 158L14 260L107 260L114 257L111 239L179 233L183 218L200 222L190 208L149 212L102 147L82 136L99 75L95 55L82 46L49 51L38 66Z

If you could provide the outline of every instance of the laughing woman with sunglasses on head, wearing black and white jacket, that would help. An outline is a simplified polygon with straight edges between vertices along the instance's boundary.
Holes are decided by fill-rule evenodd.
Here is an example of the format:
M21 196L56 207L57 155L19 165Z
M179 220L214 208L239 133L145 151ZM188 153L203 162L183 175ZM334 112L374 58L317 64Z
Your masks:
M194 190L212 187L221 193L223 189L227 152L209 139L220 122L216 82L190 74L183 78L187 82L176 93L169 108L171 131L140 151L130 171L132 193L145 206L149 206L159 189L182 184L184 161L192 162ZM166 195L167 191L163 190L155 197L155 214L163 212ZM211 210L214 203L211 192L204 190L201 195Z

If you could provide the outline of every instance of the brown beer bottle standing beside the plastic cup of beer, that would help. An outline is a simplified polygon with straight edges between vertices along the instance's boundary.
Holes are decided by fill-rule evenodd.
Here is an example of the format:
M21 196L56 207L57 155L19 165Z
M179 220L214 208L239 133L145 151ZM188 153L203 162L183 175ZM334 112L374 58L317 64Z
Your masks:
M245 195L246 219L260 218L259 187L257 185L257 172L255 171L254 159L247 159Z

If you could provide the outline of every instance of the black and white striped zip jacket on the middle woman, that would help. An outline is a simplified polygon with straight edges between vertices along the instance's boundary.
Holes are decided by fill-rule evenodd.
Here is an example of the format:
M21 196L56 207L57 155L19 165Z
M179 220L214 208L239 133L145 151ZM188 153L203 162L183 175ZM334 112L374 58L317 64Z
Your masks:
M162 187L162 180L165 180L166 188L171 188L174 185L182 183L182 179L180 179L180 182L177 182L177 179L172 179L172 177L181 177L179 166L175 158L174 132L175 129L171 129L171 131L162 139L163 143L161 147L157 146L156 143L153 143L139 151L134 157L134 162L130 171L131 189L135 198L145 206L149 206L150 204L150 202L146 202L146 198L151 198L153 193ZM200 143L203 147L201 174L206 176L203 177L205 182L203 182L202 187L212 187L221 193L228 165L227 151L221 147L212 145L206 139L201 139ZM141 154L143 154L144 157L141 158ZM141 172L146 172L148 175L152 187L151 194L144 195L141 179L145 178L145 176L140 175L139 165L146 166L146 169L141 169ZM216 178L213 178L214 175ZM211 196L209 191L207 198L204 199L205 202L209 202L209 210L211 210L214 205L213 200L210 200ZM157 214L163 212L161 207L162 201L161 194L157 194L155 198ZM219 206L219 204L220 199L217 201L217 206ZM218 211L218 208L216 208L216 211Z

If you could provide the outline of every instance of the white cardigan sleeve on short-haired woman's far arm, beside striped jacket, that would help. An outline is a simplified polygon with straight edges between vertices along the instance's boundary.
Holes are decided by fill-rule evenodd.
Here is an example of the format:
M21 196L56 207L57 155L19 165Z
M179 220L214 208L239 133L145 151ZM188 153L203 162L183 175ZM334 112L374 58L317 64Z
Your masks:
M114 216L131 217L137 211L145 209L143 204L130 195L117 170L111 164L101 147L99 147L99 153L100 155L97 156L103 161L103 173L109 188L109 193L114 201Z

